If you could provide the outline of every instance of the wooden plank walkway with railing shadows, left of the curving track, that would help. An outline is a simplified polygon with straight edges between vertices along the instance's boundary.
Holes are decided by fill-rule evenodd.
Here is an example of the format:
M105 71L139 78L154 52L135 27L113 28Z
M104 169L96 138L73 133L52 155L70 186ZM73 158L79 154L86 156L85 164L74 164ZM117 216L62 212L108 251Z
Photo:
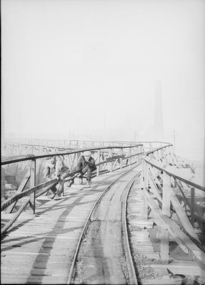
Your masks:
M93 178L90 189L65 187L64 196L44 203L35 216L22 214L1 238L1 284L66 284L91 208L106 187L132 167ZM8 215L2 214L1 221Z

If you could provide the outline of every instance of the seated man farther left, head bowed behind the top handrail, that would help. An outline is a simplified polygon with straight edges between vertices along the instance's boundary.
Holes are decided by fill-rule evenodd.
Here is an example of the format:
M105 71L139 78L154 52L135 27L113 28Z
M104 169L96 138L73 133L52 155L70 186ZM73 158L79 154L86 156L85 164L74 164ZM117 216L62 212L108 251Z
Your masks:
M58 189L53 186L50 190L52 191L52 195L50 198L54 200L59 200L60 194L64 190L65 178L69 176L69 169L64 165L63 158L61 156L48 156L46 157L45 169L44 169L44 177L46 180L52 180L57 178Z

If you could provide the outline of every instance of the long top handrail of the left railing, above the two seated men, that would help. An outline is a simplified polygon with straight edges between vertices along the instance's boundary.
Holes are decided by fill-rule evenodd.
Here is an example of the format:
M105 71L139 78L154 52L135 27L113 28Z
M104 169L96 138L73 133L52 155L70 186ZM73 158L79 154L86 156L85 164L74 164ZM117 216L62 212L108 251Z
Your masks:
M137 147L142 144L135 144L135 145L129 145L129 146L101 146L101 147L87 147L84 148L83 150L75 150L75 151L67 151L67 152L51 152L51 153L46 153L46 154L40 154L40 155L33 155L33 154L23 154L23 155L15 155L15 156L6 156L6 157L1 157L1 165L6 165L9 163L16 163L16 162L21 162L21 161L27 161L27 160L32 160L32 159L38 159L38 158L44 158L48 156L58 156L58 155L69 155L73 153L79 153L79 152L84 152L86 150L98 150L98 149L110 149L110 148L130 148L130 147Z

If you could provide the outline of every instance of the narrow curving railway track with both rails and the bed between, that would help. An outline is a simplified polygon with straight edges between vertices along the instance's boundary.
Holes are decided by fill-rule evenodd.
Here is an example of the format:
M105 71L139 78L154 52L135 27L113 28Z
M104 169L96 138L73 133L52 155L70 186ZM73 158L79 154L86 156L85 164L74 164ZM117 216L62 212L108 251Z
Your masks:
M141 164L117 178L94 204L67 284L138 284L129 248L126 200L140 168Z

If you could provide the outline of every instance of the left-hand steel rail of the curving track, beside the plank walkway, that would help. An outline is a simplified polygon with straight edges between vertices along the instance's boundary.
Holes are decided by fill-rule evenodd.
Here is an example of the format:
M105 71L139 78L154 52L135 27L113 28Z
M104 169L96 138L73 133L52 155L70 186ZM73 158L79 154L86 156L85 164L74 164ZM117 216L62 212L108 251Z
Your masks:
M81 243L82 243L82 238L84 237L85 235L85 232L87 230L87 227L88 227L88 223L90 221L90 217L95 209L95 207L97 206L97 204L101 201L102 197L105 195L105 193L110 190L110 188L120 179L122 178L124 175L126 175L127 173L131 172L134 168L137 168L138 166L140 166L142 164L142 162L139 163L139 165L137 166L134 166L132 167L131 169L129 169L128 171L124 172L121 176L119 176L116 180L114 180L103 192L102 194L100 195L100 197L97 199L97 201L95 202L95 204L93 205L88 217L87 217L87 220L85 222L85 225L83 227L83 230L82 230L82 233L81 233L81 236L79 238L79 241L78 241L78 244L77 244L77 247L76 247L76 251L75 251L75 254L74 254L74 258L73 258L73 261L72 261L72 264L71 264L71 268L70 268L70 272L69 272L69 275L68 275L68 281L66 284L72 284L71 281L72 279L74 278L74 274L75 274L75 264L76 264L76 260L77 260L77 256L78 256L78 253L79 253L79 250L80 250L80 246L81 246ZM134 271L135 273L135 271Z

